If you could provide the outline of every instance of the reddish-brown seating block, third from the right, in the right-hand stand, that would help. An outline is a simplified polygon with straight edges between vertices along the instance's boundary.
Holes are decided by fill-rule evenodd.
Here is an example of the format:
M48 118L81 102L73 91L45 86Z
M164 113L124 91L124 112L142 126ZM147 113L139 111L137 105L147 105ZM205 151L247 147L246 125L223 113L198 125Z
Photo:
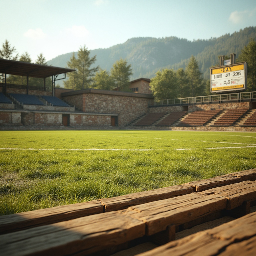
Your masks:
M220 110L195 111L188 115L178 126L202 126L209 122Z

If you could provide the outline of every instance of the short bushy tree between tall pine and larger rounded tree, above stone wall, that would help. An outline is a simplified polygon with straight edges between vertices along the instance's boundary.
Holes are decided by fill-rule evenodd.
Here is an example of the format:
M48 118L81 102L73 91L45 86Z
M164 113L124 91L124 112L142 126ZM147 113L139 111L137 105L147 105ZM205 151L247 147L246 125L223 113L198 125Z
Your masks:
M93 77L92 87L101 90L112 90L114 87L114 81L110 77L108 71L100 69Z

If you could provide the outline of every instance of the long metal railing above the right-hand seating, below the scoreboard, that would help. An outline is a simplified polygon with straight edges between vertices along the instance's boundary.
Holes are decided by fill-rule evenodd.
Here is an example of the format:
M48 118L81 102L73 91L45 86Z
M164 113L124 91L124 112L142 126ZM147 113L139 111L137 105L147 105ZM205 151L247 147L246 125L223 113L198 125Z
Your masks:
M178 99L167 99L167 100L151 100L148 102L148 106L195 105L195 104L244 102L244 101L256 101L256 91L187 97L187 98L178 98Z

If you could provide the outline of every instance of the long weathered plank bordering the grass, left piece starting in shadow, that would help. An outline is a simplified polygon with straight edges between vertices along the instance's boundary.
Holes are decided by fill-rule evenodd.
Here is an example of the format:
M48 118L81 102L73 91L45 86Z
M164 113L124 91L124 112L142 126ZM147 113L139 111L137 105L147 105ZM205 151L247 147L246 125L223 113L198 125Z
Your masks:
M0 216L0 234L103 212L97 200Z

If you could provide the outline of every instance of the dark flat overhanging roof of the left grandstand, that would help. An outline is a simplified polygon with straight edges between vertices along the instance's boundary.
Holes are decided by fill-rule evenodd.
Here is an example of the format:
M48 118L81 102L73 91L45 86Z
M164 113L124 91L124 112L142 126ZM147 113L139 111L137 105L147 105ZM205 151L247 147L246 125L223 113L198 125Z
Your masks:
M0 73L11 75L45 78L72 71L75 70L27 63L22 61L0 59Z

